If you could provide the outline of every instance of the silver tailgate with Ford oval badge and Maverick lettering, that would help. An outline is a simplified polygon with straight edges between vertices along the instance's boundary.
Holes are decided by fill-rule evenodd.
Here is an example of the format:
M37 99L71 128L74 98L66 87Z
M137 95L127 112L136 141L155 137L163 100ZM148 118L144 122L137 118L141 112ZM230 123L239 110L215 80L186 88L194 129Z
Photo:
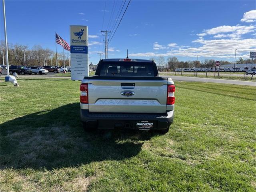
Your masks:
M124 92L132 95L126 96ZM88 95L89 112L165 113L167 79L89 78Z

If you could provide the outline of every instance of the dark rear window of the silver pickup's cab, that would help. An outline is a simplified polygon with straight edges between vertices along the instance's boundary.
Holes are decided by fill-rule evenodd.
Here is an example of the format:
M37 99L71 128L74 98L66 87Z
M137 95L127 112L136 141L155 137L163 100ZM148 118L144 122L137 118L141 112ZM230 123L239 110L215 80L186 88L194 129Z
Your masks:
M153 77L155 73L152 62L101 62L96 71L99 76Z

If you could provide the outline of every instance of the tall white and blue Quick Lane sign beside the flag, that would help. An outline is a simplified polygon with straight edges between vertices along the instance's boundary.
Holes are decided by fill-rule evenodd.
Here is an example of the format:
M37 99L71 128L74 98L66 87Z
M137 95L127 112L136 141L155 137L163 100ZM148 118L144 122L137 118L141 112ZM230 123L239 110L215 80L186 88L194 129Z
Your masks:
M89 76L88 26L70 26L71 80Z

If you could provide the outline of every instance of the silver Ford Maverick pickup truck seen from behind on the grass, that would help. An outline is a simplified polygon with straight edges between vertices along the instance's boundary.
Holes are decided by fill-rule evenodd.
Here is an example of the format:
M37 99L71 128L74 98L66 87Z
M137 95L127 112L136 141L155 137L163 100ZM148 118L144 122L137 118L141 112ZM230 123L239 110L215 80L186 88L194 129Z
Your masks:
M174 118L175 86L160 77L156 63L102 59L94 76L80 85L84 130L150 129L165 134Z

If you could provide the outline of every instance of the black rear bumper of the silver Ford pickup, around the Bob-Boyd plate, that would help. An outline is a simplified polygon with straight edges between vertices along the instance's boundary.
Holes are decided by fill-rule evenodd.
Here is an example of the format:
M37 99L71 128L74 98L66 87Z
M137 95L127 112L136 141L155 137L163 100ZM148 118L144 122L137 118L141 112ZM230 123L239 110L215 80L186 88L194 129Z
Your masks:
M81 120L90 128L113 129L167 129L174 119L174 110L161 114L141 113L89 113L87 109L81 109ZM136 124L140 121L153 122L151 128L139 128Z

